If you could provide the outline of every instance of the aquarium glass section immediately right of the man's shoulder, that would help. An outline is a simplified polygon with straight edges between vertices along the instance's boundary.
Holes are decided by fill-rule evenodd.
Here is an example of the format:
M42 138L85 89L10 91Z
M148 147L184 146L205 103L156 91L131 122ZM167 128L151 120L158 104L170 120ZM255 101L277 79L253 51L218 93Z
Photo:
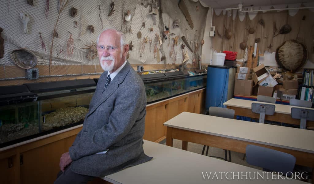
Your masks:
M153 102L171 96L172 81L145 84L147 102Z

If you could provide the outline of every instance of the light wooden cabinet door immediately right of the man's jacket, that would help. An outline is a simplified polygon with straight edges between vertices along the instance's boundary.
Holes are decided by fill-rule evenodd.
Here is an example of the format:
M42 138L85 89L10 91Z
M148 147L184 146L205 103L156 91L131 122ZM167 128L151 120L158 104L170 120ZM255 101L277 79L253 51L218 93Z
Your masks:
M146 107L145 133L143 139L160 142L166 138L164 123L168 118L168 101Z

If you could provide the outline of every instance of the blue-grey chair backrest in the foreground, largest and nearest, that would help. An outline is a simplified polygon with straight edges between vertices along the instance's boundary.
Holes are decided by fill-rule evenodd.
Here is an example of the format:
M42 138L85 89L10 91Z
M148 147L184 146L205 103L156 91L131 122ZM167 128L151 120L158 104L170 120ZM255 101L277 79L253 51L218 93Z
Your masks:
M295 167L293 155L256 145L246 146L246 162L270 171L282 172L284 175L292 172Z

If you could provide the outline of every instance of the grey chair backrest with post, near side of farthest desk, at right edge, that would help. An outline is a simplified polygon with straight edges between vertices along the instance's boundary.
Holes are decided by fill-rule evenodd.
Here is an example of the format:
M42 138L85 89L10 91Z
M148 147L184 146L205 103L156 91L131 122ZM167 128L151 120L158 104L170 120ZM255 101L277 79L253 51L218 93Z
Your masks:
M314 121L314 109L291 108L291 117L300 119L300 129L306 129L306 121Z

